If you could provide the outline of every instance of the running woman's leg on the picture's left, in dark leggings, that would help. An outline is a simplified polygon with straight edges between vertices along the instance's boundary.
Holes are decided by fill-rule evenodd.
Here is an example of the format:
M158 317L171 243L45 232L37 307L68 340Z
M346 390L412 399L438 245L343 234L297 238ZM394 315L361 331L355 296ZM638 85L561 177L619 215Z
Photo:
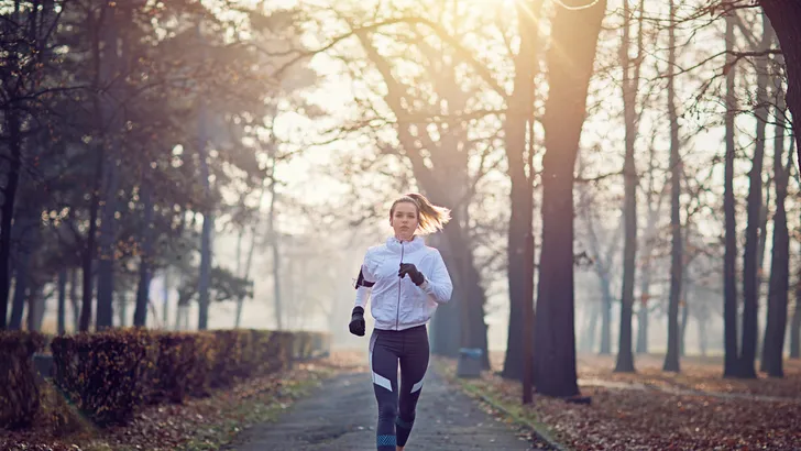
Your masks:
M378 402L378 426L375 430L378 451L395 451L397 417L397 332L373 331L370 338L370 367L373 389Z

